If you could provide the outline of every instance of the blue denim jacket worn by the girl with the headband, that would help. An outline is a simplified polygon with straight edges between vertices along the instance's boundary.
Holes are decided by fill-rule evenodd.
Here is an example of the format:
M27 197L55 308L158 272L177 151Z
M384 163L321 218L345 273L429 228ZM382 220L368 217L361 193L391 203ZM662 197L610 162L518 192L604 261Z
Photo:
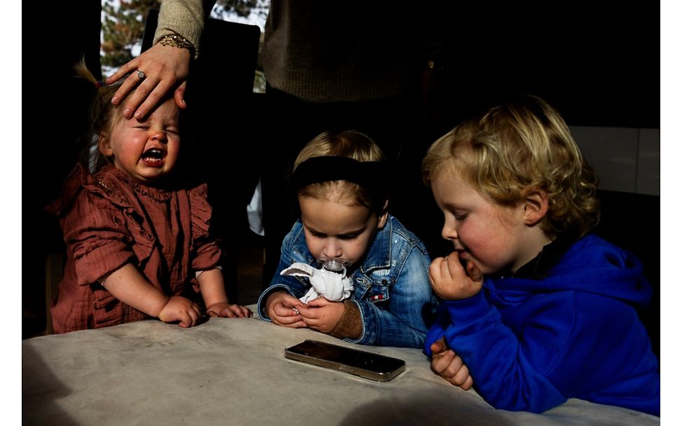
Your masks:
M300 220L284 238L277 274L258 298L258 313L263 320L271 321L265 310L270 294L286 291L300 298L309 289L307 277L279 275L294 262L317 267L305 244ZM359 339L345 340L362 345L422 348L437 308L429 283L430 264L424 243L389 215L362 264L351 266L354 294L350 300L358 305L363 330Z

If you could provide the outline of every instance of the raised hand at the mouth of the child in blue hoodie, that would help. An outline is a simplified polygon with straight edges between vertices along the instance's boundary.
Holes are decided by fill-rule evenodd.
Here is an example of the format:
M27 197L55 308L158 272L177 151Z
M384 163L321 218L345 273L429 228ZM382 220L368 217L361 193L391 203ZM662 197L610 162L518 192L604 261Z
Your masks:
M459 262L459 254L433 259L429 267L429 281L433 291L445 301L456 301L478 294L483 285L483 274L473 262L466 270Z

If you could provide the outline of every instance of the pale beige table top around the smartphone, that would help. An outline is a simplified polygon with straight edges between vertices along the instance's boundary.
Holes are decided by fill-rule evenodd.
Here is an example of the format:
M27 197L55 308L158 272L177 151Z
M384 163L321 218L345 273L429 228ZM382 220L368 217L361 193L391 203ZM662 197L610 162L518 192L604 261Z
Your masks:
M309 338L401 358L406 369L380 383L284 357ZM421 350L354 345L258 317L190 329L149 320L22 341L22 425L576 423L660 418L579 399L542 414L496 410L436 376Z

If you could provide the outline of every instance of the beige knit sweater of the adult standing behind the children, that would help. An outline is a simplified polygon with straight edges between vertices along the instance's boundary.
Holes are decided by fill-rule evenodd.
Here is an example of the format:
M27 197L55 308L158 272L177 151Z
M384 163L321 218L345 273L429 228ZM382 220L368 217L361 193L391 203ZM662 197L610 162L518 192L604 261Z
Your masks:
M260 53L267 82L307 102L401 95L423 69L422 22L394 1L271 0ZM201 0L164 0L155 42L180 34L199 53Z

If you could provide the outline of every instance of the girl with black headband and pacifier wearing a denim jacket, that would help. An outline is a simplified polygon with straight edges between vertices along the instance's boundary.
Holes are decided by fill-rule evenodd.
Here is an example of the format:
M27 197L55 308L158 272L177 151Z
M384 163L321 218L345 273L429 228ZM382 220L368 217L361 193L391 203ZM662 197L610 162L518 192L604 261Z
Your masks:
M421 348L436 299L431 259L388 212L383 155L355 131L324 132L295 160L300 219L258 298L266 321L363 345Z

